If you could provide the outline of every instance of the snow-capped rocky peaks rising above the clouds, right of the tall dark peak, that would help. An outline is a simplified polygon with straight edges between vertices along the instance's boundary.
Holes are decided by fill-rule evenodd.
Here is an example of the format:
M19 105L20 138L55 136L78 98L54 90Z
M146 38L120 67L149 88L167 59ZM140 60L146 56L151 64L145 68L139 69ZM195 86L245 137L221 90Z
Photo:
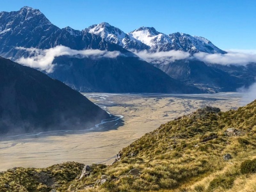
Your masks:
M179 32L165 35L164 33L156 31L155 28L141 27L127 34L103 22L90 26L88 29L84 29L84 31L100 35L106 42L120 45L132 51L147 50L150 52L159 52L175 50L185 51L191 54L195 52L226 53L204 37L191 36Z

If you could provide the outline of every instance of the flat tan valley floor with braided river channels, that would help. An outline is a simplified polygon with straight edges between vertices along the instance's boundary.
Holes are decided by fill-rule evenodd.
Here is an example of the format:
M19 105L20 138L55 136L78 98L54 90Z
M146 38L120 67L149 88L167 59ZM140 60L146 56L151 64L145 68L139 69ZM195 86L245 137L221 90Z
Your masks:
M214 95L129 95L88 93L90 100L104 102L113 115L122 115L124 125L118 129L80 132L61 136L33 136L0 141L0 171L14 166L42 168L64 161L84 164L113 162L116 154L132 141L159 125L204 106L221 111L241 106L237 93ZM101 100L101 101L99 101Z

